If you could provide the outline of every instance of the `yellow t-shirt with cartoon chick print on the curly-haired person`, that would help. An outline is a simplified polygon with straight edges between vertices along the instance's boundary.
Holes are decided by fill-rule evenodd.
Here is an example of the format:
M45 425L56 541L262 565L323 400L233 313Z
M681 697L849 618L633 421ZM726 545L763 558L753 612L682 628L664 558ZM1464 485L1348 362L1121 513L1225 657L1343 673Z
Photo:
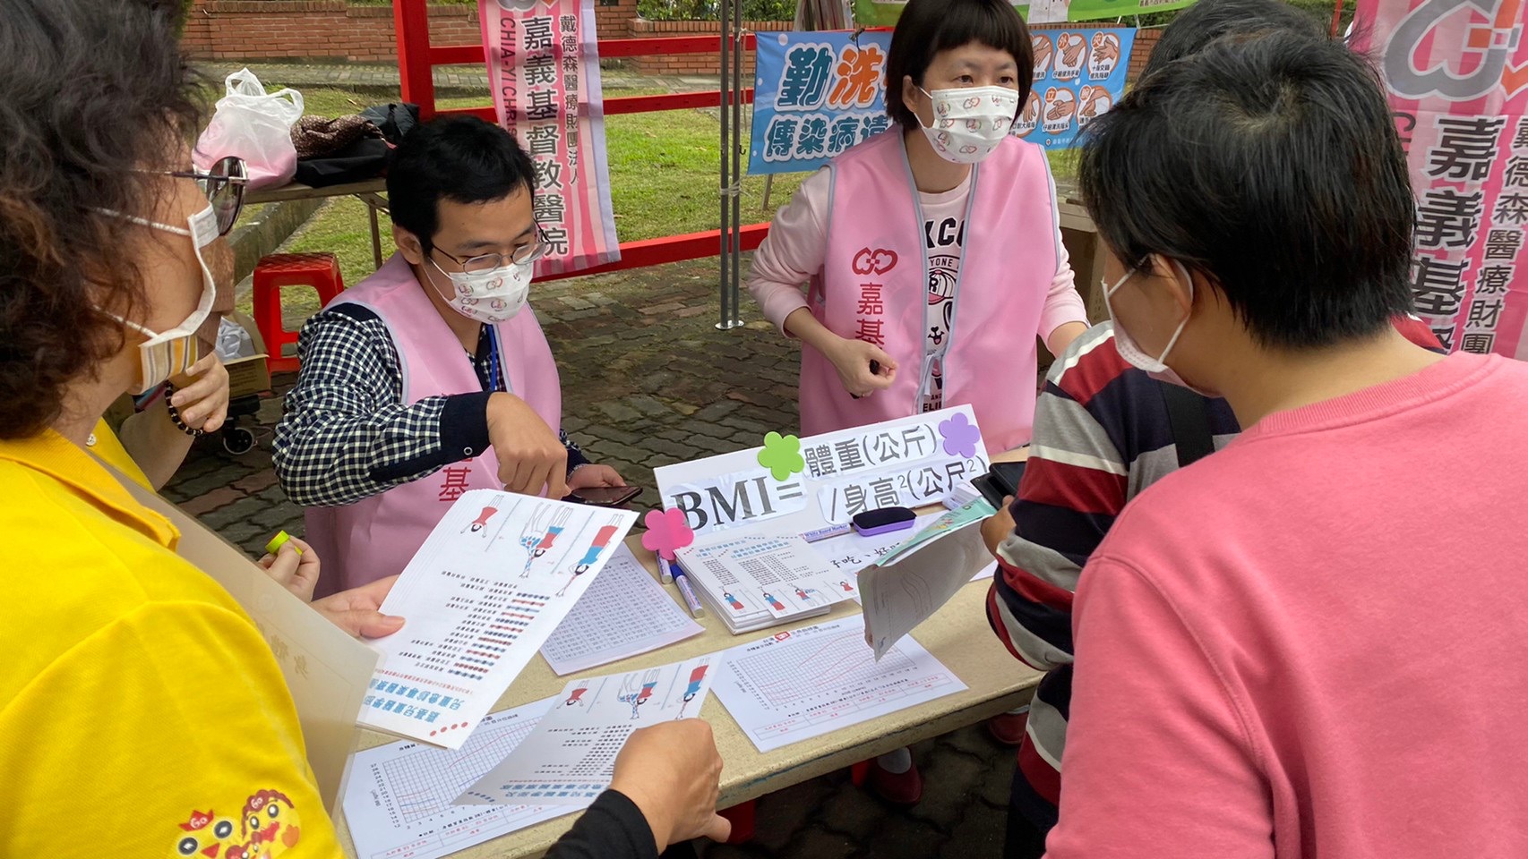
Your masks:
M0 856L341 856L275 658L170 522L53 432L0 441Z

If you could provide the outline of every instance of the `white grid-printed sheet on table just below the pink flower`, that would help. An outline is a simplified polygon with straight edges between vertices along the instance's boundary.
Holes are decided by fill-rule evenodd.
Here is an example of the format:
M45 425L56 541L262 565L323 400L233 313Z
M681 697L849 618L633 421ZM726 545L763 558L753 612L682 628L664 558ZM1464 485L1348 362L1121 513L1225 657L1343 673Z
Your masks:
M541 645L541 655L561 677L648 653L701 632L704 627L678 607L631 549L622 545Z

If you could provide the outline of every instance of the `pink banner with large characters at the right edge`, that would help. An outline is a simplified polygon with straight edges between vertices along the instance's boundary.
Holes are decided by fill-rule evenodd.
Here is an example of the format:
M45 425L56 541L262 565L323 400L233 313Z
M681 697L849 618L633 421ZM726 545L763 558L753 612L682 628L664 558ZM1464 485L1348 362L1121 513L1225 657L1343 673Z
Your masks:
M1358 0L1416 195L1412 296L1450 351L1528 359L1523 0Z

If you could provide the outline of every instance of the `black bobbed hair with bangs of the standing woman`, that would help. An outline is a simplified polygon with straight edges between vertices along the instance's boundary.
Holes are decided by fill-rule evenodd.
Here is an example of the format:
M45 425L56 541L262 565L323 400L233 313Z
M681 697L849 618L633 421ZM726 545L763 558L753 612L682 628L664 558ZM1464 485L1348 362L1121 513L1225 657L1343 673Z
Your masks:
M1019 105L1034 87L1034 43L1010 0L908 0L886 52L886 113L903 128L918 117L902 102L902 79L923 85L923 73L941 50L970 43L1007 50L1019 66Z

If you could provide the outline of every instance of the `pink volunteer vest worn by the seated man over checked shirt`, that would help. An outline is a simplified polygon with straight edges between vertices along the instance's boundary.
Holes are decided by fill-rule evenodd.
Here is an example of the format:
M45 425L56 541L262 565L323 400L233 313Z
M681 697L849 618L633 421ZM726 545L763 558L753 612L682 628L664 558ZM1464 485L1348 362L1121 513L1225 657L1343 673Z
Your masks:
M483 391L461 342L422 291L414 272L394 253L376 275L330 302L356 304L376 313L403 365L403 403L437 394ZM562 389L547 337L527 307L497 327L500 374L547 426L562 424ZM487 449L475 459L452 462L411 484L344 507L307 508L307 540L324 561L318 597L402 572L466 490L503 488L498 458Z

